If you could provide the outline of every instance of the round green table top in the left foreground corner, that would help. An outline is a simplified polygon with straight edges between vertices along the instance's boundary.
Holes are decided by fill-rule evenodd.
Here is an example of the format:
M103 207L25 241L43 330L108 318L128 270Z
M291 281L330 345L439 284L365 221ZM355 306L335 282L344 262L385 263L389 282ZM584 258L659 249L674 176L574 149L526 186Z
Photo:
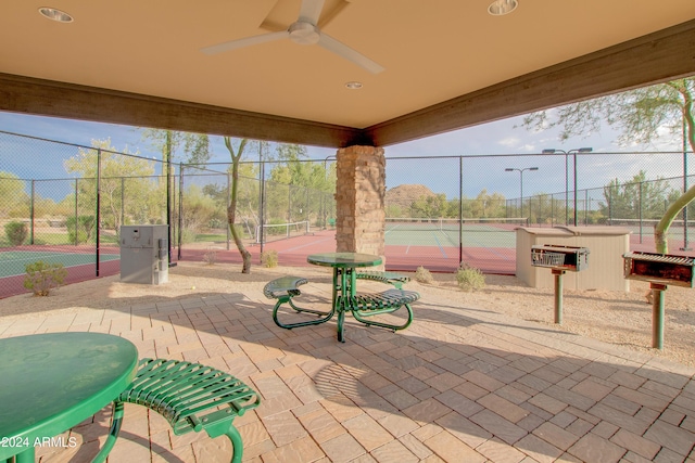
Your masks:
M128 387L137 368L135 345L109 334L0 339L0 461L97 413Z

